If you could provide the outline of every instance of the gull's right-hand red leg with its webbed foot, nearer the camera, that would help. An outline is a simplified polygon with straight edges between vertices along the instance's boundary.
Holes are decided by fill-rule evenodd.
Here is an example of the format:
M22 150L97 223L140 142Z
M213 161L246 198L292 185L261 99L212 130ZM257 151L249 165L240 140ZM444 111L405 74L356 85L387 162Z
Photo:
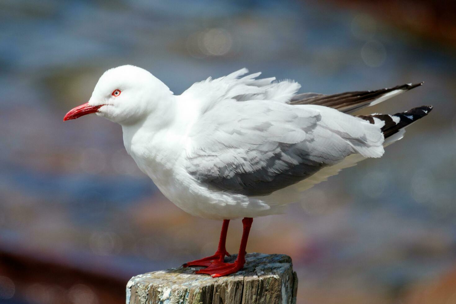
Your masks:
M241 245L239 246L238 258L234 263L214 263L206 269L198 270L196 273L206 273L212 275L212 278L223 277L225 275L236 273L244 267L245 263L245 248L247 247L247 239L249 238L250 227L252 227L253 218L244 217L242 224L244 230L242 232Z

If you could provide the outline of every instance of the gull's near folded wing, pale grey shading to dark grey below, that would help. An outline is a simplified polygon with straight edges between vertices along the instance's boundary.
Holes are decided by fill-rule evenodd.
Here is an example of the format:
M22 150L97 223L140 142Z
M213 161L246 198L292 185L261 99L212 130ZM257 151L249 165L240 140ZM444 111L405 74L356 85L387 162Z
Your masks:
M368 122L317 108L325 113L267 101L215 107L192 129L186 169L211 189L262 196L336 164L357 147L381 146L378 127L366 134L359 127Z

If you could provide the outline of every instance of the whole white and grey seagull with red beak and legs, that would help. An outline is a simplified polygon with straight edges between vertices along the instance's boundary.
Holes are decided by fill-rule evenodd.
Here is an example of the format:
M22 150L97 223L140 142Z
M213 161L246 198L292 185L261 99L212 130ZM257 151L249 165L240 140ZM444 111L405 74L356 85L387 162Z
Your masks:
M254 217L280 214L302 192L378 158L432 106L392 115L354 115L423 83L335 95L301 93L299 83L258 78L243 68L194 83L181 95L150 72L124 65L104 72L92 96L64 121L95 113L122 126L124 146L142 172L176 206L223 221L214 255L185 263L221 277L244 267ZM243 218L233 263L225 241Z

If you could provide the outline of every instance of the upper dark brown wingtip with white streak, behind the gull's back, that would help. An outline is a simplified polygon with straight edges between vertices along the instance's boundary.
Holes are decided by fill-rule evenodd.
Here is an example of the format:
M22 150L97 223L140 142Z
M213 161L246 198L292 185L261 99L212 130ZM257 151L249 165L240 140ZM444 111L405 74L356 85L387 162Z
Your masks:
M374 91L346 92L334 95L317 93L297 94L290 100L290 104L316 104L335 108L344 113L352 113L362 108L380 103L397 94L419 87L421 83L404 84L394 88L383 88Z

